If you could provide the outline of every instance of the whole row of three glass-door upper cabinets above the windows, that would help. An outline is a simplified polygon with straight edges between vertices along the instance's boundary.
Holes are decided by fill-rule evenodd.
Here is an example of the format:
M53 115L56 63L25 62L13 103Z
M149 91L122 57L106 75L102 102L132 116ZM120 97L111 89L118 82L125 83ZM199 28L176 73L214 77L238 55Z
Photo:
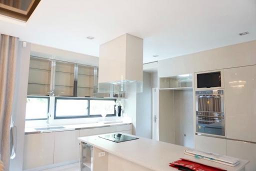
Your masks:
M97 67L30 57L27 95L93 97Z

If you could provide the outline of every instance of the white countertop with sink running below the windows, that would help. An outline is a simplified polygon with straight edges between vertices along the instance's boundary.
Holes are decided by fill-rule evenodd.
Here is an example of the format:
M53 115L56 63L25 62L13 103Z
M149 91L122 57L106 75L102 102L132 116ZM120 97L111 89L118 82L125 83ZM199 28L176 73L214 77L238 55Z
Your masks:
M49 130L36 130L35 129L35 128L41 128L41 127L26 127L25 134L54 132L54 131L66 131L66 130L75 130L75 129L86 129L86 128L95 128L95 127L103 127L103 126L122 125L122 124L129 124L129 123L131 123L131 122L129 122L129 121L122 121L122 122L116 122L116 123L94 122L94 123L84 123L84 124L51 125L48 127L63 126L65 128L49 129ZM47 127L47 126L43 126L43 127Z

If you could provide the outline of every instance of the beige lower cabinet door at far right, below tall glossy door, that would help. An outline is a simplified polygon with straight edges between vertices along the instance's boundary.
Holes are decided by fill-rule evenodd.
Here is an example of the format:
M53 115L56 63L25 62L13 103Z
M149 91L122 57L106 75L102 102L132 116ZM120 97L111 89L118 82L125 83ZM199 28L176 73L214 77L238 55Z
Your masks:
M226 140L227 155L249 160L246 171L256 170L256 144L236 140Z

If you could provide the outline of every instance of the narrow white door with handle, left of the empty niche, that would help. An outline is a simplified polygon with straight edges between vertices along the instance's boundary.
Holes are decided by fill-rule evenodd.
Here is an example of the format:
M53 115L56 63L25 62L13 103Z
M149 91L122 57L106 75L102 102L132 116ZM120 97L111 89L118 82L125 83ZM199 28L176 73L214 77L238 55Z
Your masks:
M152 139L159 140L158 88L152 88Z

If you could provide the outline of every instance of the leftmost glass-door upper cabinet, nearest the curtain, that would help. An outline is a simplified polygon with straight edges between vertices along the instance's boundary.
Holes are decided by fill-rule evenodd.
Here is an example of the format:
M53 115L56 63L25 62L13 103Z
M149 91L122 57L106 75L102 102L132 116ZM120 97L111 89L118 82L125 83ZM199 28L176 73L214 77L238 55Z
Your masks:
M49 95L51 60L31 57L28 75L28 95Z

